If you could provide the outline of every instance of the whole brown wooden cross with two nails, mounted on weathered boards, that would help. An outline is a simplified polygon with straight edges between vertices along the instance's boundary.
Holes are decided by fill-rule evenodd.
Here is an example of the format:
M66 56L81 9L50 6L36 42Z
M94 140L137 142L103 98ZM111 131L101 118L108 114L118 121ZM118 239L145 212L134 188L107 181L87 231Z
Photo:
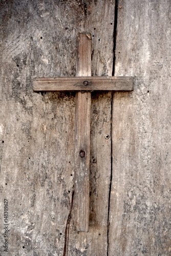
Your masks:
M91 35L77 36L76 77L35 78L33 90L76 91L75 226L89 231L91 91L133 91L132 77L91 77Z

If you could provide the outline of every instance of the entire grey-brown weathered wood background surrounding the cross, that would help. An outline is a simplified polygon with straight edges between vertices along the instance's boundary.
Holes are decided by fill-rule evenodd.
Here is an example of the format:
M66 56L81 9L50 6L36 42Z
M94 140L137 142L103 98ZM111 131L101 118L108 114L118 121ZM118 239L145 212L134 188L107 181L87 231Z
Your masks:
M0 255L171 255L170 7L118 1L114 75L135 90L92 93L85 233L73 221L75 93L34 93L33 78L75 76L84 31L92 76L112 75L115 1L0 1Z

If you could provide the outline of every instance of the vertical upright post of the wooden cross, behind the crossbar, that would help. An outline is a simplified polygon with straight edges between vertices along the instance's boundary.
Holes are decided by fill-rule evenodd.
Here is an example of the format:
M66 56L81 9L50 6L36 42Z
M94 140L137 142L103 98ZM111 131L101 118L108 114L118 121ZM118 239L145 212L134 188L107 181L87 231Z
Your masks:
M77 76L91 76L91 36L77 37ZM75 226L89 231L91 92L76 95Z

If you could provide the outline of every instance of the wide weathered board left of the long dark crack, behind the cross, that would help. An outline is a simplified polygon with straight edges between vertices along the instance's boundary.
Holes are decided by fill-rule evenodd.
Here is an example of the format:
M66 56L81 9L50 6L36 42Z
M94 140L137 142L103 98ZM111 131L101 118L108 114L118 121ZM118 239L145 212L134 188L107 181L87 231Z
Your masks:
M1 254L106 255L111 93L92 93L90 230L74 230L75 94L34 93L34 77L75 76L78 32L92 34L92 76L112 75L114 1L1 1ZM1 154L1 152L0 152ZM70 227L70 229L69 229Z

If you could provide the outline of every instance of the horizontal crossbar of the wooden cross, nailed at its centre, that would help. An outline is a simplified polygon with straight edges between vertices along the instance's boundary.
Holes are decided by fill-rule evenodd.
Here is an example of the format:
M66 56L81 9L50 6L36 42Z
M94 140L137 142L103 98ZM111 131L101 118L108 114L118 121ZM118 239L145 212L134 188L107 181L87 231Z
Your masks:
M133 91L133 77L35 78L36 91Z

